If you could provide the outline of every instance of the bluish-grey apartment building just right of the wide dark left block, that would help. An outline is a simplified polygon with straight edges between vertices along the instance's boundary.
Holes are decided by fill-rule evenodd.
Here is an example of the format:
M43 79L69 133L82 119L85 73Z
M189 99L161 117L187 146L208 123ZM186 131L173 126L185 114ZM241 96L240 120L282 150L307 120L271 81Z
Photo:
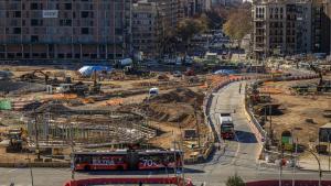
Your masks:
M178 0L140 0L132 6L132 46L146 56L162 53L166 40L175 34Z

